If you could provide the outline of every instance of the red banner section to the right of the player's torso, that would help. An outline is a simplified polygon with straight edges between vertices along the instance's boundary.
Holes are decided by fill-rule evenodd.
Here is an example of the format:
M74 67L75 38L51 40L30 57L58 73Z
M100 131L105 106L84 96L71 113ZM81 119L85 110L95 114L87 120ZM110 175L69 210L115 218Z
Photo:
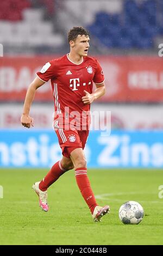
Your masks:
M99 58L105 74L106 94L113 102L163 101L163 58L148 56Z

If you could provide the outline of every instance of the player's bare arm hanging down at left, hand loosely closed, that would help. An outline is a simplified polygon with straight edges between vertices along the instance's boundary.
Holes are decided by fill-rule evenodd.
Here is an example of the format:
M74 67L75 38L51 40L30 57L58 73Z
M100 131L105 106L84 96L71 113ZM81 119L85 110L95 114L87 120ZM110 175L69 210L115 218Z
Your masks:
M34 100L36 89L42 86L45 82L36 77L30 84L27 90L26 99L24 101L23 113L21 116L21 123L24 127L30 128L30 125L34 126L33 118L29 116L30 106Z

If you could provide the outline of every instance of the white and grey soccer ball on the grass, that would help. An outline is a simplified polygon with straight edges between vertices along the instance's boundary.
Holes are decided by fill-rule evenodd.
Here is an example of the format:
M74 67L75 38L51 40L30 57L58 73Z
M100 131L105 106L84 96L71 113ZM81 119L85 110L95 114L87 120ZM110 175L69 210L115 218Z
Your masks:
M139 224L143 218L143 208L135 201L128 201L121 205L119 217L124 224Z

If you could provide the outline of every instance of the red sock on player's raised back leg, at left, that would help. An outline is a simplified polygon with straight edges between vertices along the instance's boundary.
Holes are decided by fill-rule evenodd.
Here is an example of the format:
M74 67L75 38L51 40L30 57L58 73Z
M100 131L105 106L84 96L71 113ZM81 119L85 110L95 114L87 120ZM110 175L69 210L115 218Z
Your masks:
M58 178L64 174L66 170L62 168L61 161L55 163L48 174L43 178L39 184L39 188L42 191L46 191Z

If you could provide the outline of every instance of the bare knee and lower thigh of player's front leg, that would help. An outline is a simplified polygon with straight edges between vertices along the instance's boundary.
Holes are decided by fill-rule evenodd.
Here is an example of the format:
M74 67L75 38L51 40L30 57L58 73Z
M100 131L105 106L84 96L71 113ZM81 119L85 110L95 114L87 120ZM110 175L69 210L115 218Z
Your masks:
M86 158L82 148L74 149L70 154L70 158L73 162L74 168L86 167Z

